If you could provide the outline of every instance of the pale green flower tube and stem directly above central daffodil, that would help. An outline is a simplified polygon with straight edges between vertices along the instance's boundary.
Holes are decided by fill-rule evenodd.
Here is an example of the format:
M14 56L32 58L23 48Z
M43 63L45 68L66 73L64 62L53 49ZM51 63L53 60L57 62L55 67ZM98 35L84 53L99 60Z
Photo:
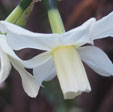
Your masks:
M56 0L43 0L46 7L48 8L48 17L53 33L64 33L65 28L60 16L60 13L57 9Z

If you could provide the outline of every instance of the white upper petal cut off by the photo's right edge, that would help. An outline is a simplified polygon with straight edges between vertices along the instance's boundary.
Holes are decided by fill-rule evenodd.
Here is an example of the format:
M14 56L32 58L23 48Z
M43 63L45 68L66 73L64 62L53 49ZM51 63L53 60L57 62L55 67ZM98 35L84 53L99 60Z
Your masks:
M108 36L113 37L113 12L98 20L91 28L89 36L93 40Z

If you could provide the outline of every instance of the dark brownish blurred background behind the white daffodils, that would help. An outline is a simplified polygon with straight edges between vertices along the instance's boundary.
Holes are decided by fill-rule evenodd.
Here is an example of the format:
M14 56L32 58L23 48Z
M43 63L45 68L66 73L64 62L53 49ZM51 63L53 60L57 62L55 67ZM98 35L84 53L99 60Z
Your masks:
M0 19L4 20L16 7L18 0L0 0ZM113 10L113 0L60 0L58 3L66 30L81 25L87 19L97 20ZM26 28L40 33L50 33L46 9L41 2L35 4ZM95 45L103 49L113 62L113 39L96 40ZM32 51L32 53L31 53ZM21 50L18 55L29 59L41 51ZM113 112L113 77L102 77L85 65L92 87L73 100L64 100L57 78L44 82L37 98L28 97L21 84L19 74L12 69L8 79L0 85L0 112ZM32 72L32 71L31 71Z

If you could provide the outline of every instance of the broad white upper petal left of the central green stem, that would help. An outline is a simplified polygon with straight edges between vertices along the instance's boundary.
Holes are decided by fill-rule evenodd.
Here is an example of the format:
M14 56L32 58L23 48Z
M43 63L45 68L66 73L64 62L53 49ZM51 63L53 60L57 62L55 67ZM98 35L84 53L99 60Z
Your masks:
M7 41L14 50L23 48L51 50L59 44L59 34L33 33L6 21L1 21L0 27L7 33Z

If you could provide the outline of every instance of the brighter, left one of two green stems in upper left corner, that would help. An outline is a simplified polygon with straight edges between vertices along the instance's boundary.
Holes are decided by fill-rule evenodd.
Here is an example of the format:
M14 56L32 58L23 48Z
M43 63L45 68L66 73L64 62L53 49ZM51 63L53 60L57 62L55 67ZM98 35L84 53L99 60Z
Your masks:
M32 0L21 0L20 4L12 11L5 21L16 23L24 10L31 4Z

